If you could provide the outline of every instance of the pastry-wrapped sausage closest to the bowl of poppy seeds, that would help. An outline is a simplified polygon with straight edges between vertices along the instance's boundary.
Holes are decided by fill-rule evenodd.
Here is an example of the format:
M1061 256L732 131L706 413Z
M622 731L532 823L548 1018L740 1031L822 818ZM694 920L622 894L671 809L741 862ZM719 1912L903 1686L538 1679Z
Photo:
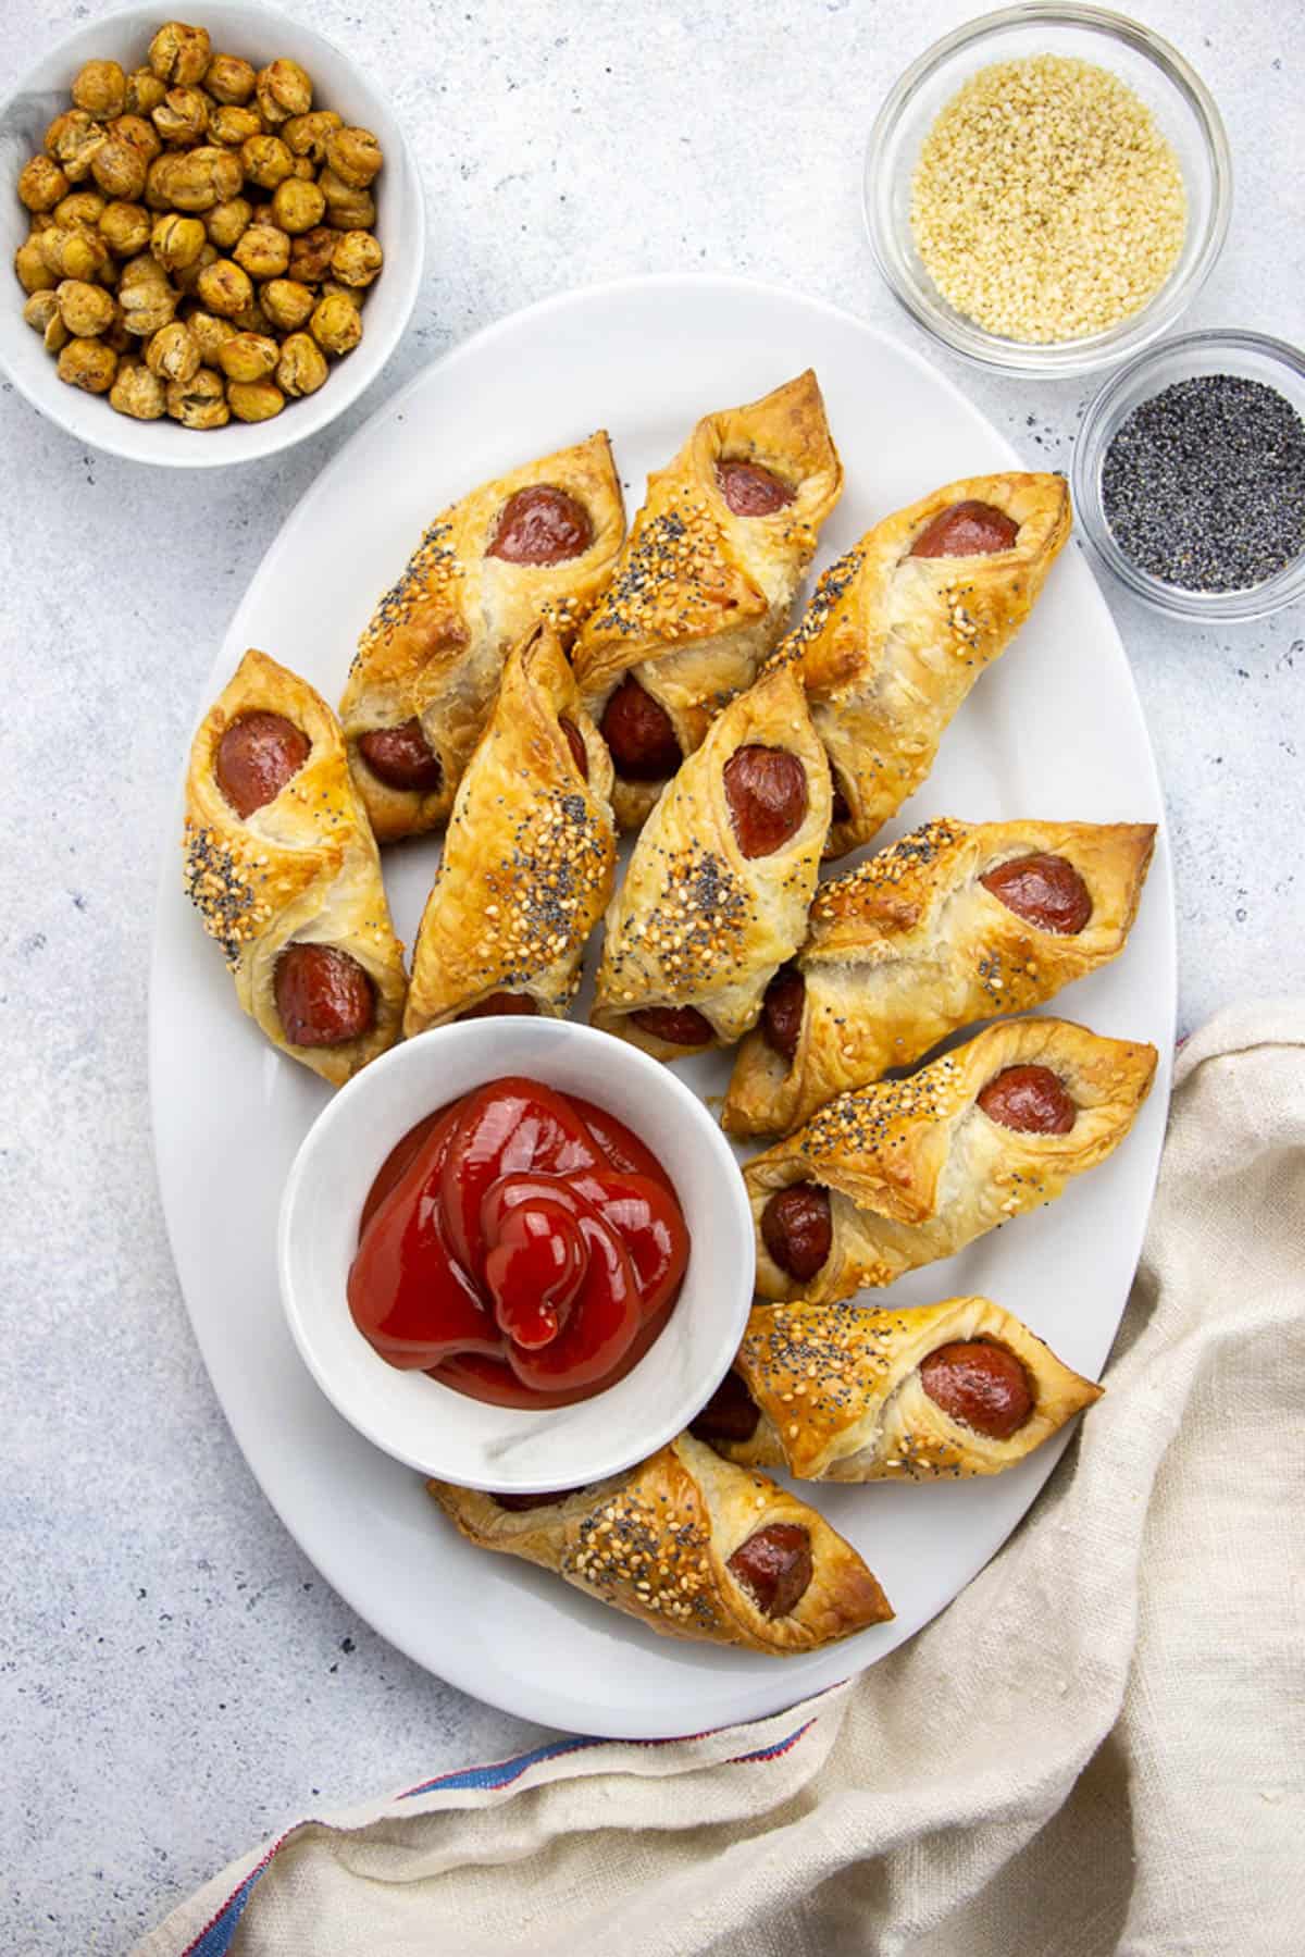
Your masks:
M824 571L775 658L800 661L830 751L826 855L867 843L916 793L1068 534L1060 476L972 476L886 517Z

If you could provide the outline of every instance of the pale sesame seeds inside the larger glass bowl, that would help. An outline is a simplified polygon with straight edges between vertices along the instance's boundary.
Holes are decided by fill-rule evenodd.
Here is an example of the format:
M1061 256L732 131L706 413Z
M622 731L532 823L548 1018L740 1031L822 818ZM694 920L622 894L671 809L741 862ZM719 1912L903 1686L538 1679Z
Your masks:
M925 137L912 233L937 290L988 333L1072 341L1160 290L1188 225L1150 110L1088 61L980 68Z

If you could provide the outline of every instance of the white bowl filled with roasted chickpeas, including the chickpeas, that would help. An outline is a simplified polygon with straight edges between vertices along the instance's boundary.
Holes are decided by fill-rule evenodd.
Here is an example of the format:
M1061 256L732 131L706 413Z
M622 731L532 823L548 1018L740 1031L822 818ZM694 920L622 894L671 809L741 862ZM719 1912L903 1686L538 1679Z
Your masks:
M380 374L417 299L421 180L383 96L260 6L129 8L0 106L0 364L96 448L270 456Z

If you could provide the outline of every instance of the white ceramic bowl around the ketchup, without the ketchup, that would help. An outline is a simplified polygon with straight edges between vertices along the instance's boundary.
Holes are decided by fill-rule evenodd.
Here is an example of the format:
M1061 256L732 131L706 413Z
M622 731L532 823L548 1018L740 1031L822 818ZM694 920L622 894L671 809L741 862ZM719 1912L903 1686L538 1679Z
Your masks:
M591 1399L540 1413L489 1407L385 1364L344 1296L362 1204L393 1145L503 1074L579 1094L634 1129L671 1176L691 1239L679 1301L638 1366ZM710 1112L669 1067L569 1020L470 1020L393 1047L317 1115L282 1196L282 1303L327 1399L411 1468L505 1495L599 1481L679 1434L738 1352L753 1270L743 1178Z

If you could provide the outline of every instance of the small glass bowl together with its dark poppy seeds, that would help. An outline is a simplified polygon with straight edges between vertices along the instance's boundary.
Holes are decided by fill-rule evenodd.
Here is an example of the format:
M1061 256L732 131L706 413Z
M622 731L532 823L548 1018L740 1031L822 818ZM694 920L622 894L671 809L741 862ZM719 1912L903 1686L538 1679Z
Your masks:
M1172 618L1305 597L1305 352L1184 333L1121 368L1074 444L1074 507L1109 569Z

